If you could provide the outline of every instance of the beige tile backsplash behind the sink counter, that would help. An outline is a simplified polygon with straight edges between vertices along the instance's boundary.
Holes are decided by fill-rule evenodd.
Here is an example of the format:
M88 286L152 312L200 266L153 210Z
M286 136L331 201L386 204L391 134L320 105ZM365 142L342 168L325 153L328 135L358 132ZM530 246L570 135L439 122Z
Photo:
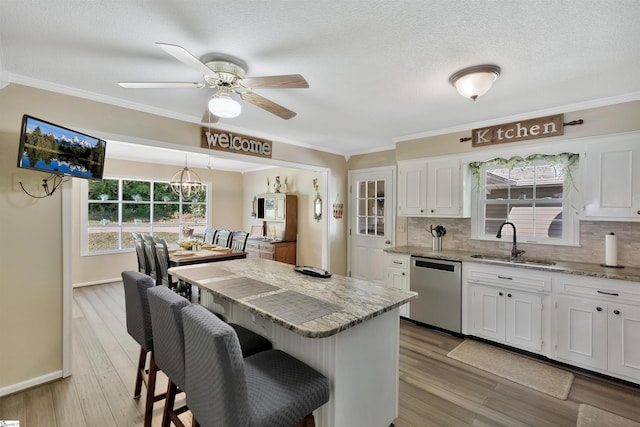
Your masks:
M429 225L443 225L448 236L443 250L457 249L472 252L491 252L509 255L511 239L490 242L471 239L471 220L468 218L407 218L407 245L431 247ZM604 263L604 236L618 236L618 264L640 268L640 222L581 221L580 246L534 245L518 242L525 256L587 263ZM397 242L398 245L401 243Z

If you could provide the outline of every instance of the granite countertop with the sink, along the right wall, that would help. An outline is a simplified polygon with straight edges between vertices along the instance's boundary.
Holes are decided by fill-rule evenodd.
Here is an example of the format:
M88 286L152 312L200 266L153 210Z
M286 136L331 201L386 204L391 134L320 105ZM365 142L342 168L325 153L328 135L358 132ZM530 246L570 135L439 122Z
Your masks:
M431 248L424 246L396 246L393 248L385 249L385 252L414 255L426 258L446 259L451 261L462 262L475 262L481 264L493 264L502 265L516 268L527 268L532 270L542 270L550 272L558 272L565 274L576 274L581 276L600 277L603 279L617 279L628 280L632 282L640 282L640 268L625 267L625 268L612 268L603 267L600 264L590 264L582 262L570 262L570 261L557 261L552 260L553 265L535 265L535 264L521 264L513 262L495 261L488 259L472 258L472 255L481 252L468 252L457 250L443 250L442 252L434 252ZM482 255L492 255L484 254ZM501 254L493 254L495 256L502 256ZM522 257L522 260L527 260L527 257Z

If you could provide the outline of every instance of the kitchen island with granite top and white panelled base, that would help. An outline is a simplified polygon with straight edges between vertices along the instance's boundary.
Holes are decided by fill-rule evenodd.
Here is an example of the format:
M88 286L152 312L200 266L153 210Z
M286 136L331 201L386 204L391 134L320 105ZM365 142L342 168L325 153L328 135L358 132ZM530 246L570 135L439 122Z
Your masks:
M317 426L388 426L398 414L399 311L415 292L264 259L174 267L202 304L303 360L331 381Z

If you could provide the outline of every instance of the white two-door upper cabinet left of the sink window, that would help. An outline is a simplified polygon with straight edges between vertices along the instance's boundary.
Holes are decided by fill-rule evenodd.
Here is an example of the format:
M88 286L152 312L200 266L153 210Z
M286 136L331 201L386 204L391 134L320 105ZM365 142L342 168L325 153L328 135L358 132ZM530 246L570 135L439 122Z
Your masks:
M466 199L460 160L422 159L398 163L398 215L463 217Z

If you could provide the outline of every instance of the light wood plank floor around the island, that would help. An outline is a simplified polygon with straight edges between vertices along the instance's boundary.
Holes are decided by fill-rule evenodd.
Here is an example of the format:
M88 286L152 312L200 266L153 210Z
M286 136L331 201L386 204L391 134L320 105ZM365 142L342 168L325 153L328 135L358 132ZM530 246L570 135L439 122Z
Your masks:
M576 373L562 401L447 358L460 338L407 321L400 329L396 427L575 426L580 403L640 421L640 388ZM75 289L73 375L0 398L0 420L20 420L20 427L142 426L144 402L132 398L138 350L126 332L121 284ZM154 426L161 410L158 402Z

